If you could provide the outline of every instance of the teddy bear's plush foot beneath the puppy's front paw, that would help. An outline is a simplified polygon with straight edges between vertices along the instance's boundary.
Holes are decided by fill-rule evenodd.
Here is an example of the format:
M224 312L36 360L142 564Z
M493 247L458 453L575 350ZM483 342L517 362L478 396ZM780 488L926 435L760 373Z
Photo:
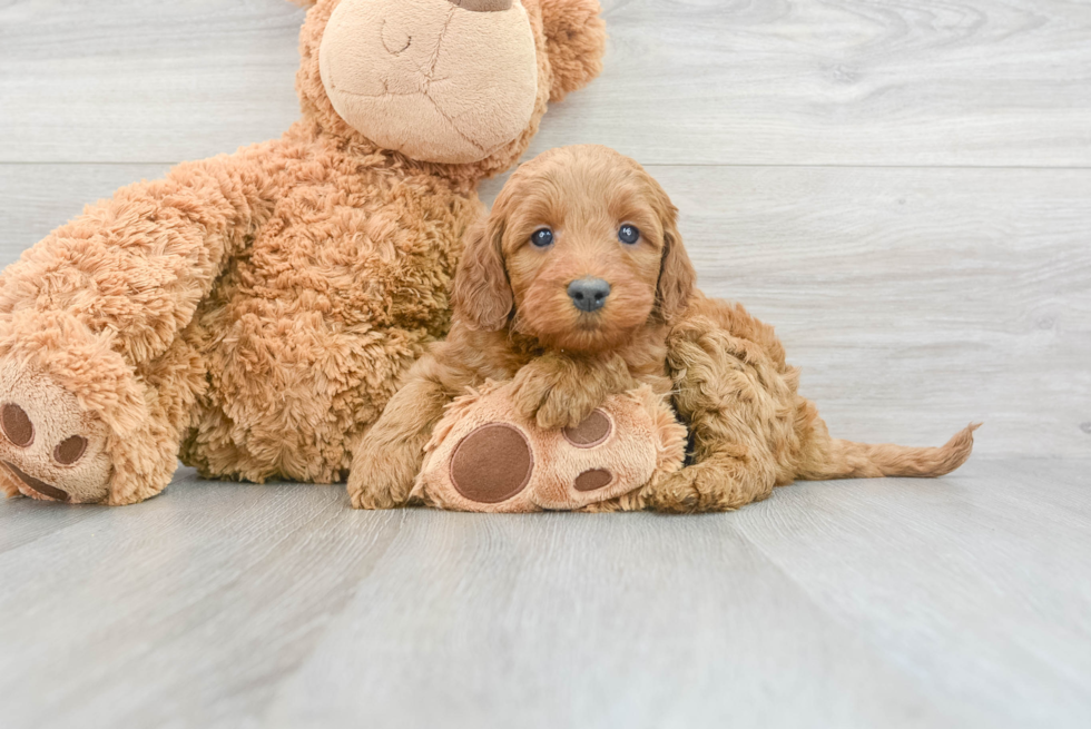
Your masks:
M512 387L488 383L448 406L413 499L458 511L574 510L681 467L686 428L649 386L610 396L590 423L568 432L520 415Z

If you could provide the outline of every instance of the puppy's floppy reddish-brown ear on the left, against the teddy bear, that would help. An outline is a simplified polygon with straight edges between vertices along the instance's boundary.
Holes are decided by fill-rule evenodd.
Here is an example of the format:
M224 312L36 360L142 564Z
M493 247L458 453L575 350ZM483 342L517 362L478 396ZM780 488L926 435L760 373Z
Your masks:
M499 332L508 323L514 299L501 248L503 224L482 220L466 235L462 263L454 275L454 315L475 331Z

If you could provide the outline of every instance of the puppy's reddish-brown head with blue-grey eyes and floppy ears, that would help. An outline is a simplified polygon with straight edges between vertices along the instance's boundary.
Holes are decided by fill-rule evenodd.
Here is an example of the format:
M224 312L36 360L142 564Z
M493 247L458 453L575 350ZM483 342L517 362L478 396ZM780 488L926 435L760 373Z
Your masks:
M696 279L677 214L659 184L612 149L544 152L515 170L469 237L455 316L580 352L669 324Z

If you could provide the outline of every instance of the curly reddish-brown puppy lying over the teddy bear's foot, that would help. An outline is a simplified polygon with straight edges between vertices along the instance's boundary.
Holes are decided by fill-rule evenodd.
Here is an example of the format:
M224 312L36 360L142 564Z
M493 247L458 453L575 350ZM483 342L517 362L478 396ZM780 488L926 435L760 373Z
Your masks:
M938 476L962 465L971 425L943 447L834 440L797 393L773 327L695 288L677 209L611 149L553 149L521 166L469 237L454 323L354 452L357 509L404 505L433 426L486 380L514 380L514 406L574 427L639 384L669 395L689 464L591 509L737 509L797 479Z

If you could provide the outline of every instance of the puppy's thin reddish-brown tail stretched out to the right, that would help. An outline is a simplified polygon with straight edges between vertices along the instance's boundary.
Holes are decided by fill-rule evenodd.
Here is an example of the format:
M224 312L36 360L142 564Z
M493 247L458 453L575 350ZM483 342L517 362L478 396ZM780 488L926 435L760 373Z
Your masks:
M974 431L979 427L981 423L971 423L955 433L946 445L927 449L841 441L830 439L822 427L813 433L813 441L807 444L810 447L805 447L796 477L805 481L878 476L934 479L966 462L973 451Z

